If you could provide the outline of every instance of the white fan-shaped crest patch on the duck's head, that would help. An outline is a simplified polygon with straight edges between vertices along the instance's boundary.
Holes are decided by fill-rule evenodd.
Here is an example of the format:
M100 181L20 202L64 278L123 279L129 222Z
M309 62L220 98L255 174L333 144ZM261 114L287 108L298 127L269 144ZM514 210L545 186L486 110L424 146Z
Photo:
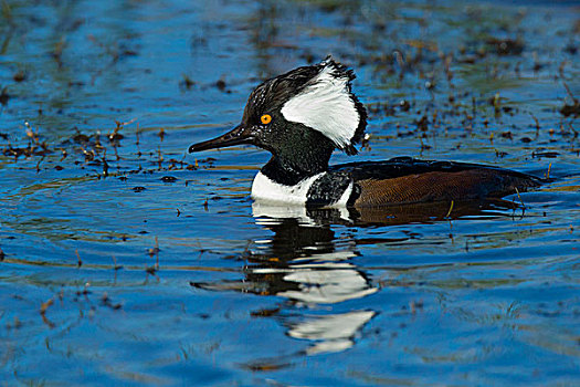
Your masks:
M350 145L360 123L360 115L349 93L348 74L340 73L333 62L282 107L282 115L304 124L330 138L337 147Z

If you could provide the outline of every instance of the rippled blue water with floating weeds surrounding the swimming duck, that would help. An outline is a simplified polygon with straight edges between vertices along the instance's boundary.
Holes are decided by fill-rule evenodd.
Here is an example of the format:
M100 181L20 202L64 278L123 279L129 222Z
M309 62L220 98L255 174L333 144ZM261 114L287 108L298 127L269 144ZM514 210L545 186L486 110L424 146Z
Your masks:
M0 4L2 384L580 384L578 4ZM251 201L265 151L186 156L329 53L370 115L331 163L553 181L306 211Z

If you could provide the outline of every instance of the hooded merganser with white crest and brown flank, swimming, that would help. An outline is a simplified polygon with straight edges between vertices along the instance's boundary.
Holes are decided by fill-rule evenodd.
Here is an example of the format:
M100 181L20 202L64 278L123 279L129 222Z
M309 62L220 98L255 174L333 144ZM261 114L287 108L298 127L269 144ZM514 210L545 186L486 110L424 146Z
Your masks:
M194 144L200 151L252 144L272 153L252 185L254 200L323 207L372 207L500 198L539 178L477 164L418 160L328 166L335 148L357 154L367 111L351 91L352 70L327 57L265 81L247 100L242 123Z

